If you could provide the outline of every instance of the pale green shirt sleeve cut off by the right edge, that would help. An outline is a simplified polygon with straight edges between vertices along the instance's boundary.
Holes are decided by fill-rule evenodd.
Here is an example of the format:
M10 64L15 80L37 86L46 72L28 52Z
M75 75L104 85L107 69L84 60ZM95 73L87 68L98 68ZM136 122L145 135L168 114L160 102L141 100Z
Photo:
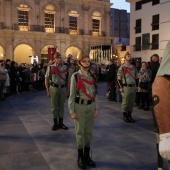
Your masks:
M167 44L157 76L170 75L170 41Z

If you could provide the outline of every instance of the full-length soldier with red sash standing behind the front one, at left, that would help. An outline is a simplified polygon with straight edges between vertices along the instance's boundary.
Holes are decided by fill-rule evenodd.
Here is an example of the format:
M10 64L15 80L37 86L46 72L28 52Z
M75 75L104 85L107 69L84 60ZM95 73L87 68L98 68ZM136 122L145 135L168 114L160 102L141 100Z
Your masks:
M47 67L45 75L45 86L47 95L51 97L52 115L54 125L52 130L64 129L68 127L63 124L64 103L66 99L66 87L70 78L67 66L62 64L62 56L57 52L55 63Z

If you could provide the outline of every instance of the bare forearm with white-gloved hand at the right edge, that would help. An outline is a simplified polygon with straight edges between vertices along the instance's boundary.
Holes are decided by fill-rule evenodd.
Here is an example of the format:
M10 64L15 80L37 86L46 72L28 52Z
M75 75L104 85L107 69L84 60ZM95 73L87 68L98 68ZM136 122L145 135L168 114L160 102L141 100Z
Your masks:
M154 113L160 132L159 153L170 160L170 77L156 77L152 86Z

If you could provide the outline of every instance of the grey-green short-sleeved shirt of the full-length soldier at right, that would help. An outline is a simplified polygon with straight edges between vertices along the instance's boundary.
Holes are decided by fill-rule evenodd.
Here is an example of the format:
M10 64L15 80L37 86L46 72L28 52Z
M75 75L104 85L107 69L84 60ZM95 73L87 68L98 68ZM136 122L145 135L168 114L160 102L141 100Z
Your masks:
M128 67L128 71L126 71ZM134 65L123 64L119 67L117 76L120 76L123 84L136 84L136 79L138 78L138 72Z

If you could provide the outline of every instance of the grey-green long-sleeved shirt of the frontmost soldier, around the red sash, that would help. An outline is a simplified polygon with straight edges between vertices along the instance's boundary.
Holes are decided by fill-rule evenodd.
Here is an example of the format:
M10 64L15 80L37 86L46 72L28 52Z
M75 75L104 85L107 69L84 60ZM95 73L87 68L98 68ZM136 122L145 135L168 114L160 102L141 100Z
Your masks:
M70 83L70 96L69 96L69 100L68 100L68 107L70 110L70 114L71 113L75 113L74 111L74 105L75 105L75 99L76 97L79 97L80 99L85 99L85 100L91 100L90 98L88 98L81 90L79 90L79 93L77 94L77 89L76 89L76 79L75 79L75 74L77 74L77 81L78 81L78 77L80 76L81 78L87 79L88 81L93 81L93 77L88 75L85 76L82 74L81 70L79 70L78 72L74 73L71 76L71 83ZM90 95L90 96L95 96L95 108L98 109L98 101L97 101L97 95L96 95L96 89L94 85L90 85L85 83L85 87L86 87L86 92ZM79 95L79 96L78 96Z

